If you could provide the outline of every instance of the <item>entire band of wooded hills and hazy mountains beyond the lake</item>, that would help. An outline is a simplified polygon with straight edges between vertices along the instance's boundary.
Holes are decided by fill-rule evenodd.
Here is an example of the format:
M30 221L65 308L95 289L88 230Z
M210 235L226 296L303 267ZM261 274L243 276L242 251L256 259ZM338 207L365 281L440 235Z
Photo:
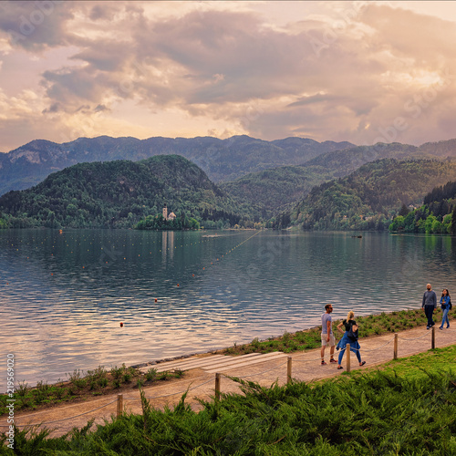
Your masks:
M159 150L163 154L154 155ZM148 154L157 161L141 159ZM191 157L192 163L184 160L183 155ZM126 156L130 160L124 160ZM456 179L453 175L456 161L451 160L455 156L456 140L426 143L420 147L398 142L355 146L347 142L318 143L301 138L264 141L247 136L228 140L99 137L80 138L65 144L35 140L0 155L1 185L4 189L21 188L30 187L31 182L42 182L24 195L23 192L6 193L1 201L5 213L18 220L37 218L47 226L129 226L129 223L137 223L140 217L160 213L161 204L172 201L182 214L195 215L199 222L229 221L233 224L237 223L233 221L243 219L247 226L250 222L245 221L269 220L275 227L291 223L302 224L307 229L364 229L366 226L373 229L390 220L400 204L419 204L426 192L445 183L442 180ZM166 161L165 157L172 159ZM68 162L74 161L82 162L67 166ZM111 162L115 164L110 166ZM168 168L171 167L174 178L170 170L163 167L165 162ZM137 171L133 171L135 163L139 166ZM201 163L215 178L211 179L204 172ZM198 169L199 183L192 181L191 188L182 192L187 183L185 172L191 166ZM64 171L55 172L59 167ZM252 170L260 171L248 172ZM367 175L363 174L366 172ZM125 175L135 173L141 180L124 179ZM101 186L98 185L99 176L106 178ZM233 176L240 177L229 181ZM120 181L127 182L125 185L134 181L130 186L133 190L125 192ZM153 181L161 182L161 187L155 191L150 187ZM56 182L63 184L63 188ZM208 185L210 192L206 188ZM318 196L320 193L324 197ZM88 205L79 203L80 195L85 202L90 200ZM218 201L213 199L214 195ZM366 195L370 200L363 200ZM58 204L58 198L62 198L61 204ZM376 198L383 198L385 203L378 205ZM343 204L338 207L340 202ZM97 205L106 213L100 214ZM72 213L72 206L77 207L78 220L76 212ZM98 218L89 214L89 206L97 212ZM363 220L368 221L368 225L361 223Z

